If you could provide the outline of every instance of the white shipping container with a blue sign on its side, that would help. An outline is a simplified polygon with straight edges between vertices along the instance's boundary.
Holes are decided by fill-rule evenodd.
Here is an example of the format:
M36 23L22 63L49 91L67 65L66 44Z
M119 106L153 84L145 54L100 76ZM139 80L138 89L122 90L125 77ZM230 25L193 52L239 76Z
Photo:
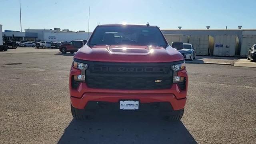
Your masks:
M214 56L235 56L238 53L238 37L236 35L218 35L214 37Z

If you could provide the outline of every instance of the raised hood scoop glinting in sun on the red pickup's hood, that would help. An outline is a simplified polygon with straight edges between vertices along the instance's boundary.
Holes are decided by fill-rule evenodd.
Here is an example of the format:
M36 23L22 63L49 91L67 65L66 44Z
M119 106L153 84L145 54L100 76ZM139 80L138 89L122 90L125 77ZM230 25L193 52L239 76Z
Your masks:
M107 46L107 51L111 54L149 54L153 49L148 47L146 48L127 48L127 47L119 47L116 46L114 48L110 48L110 45Z

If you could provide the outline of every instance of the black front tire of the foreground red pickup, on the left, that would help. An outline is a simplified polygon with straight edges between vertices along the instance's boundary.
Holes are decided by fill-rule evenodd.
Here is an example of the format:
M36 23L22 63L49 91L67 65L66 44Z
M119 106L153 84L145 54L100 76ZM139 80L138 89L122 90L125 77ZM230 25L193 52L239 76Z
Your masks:
M90 113L86 112L86 110L74 108L71 103L70 103L70 107L71 107L71 113L72 113L72 116L74 119L76 119L76 120L88 120L89 119Z

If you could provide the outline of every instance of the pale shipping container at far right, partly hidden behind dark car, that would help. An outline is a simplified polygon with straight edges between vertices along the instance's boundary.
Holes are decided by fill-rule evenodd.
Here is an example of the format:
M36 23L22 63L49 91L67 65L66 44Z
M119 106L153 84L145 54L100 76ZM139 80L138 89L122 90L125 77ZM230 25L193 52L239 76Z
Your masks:
M256 35L243 34L240 56L246 57L248 54L248 49L254 44L256 44Z

